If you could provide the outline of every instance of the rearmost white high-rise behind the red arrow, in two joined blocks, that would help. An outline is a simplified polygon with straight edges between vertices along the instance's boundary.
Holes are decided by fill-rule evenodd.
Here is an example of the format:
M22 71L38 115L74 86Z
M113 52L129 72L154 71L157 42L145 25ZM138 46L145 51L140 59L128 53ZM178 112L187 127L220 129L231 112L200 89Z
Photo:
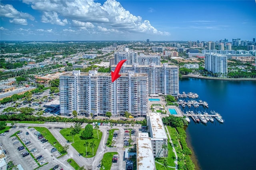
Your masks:
M115 53L115 64L118 64L119 61L123 59L127 59L125 63L128 65L134 63L139 63L139 65L150 65L151 63L160 65L161 57L159 55L138 55L138 53L134 51Z

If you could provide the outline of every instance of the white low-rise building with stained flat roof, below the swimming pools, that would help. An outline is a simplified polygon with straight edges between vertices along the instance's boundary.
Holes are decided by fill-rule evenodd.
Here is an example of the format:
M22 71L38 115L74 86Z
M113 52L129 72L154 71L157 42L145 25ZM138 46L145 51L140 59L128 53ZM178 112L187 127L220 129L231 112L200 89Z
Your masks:
M168 137L160 113L147 114L147 126L150 132L153 154L155 158L168 157Z

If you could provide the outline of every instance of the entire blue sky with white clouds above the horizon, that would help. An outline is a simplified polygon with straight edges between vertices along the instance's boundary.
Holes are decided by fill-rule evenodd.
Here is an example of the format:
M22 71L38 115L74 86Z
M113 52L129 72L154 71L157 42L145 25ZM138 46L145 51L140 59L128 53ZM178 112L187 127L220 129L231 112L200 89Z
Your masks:
M256 1L1 0L0 40L256 38Z

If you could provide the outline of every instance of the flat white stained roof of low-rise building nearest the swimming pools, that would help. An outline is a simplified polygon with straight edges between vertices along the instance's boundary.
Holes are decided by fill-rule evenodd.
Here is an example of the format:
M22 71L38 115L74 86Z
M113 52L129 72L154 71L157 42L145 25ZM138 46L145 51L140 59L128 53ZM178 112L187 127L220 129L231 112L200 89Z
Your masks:
M166 132L164 130L164 124L162 122L162 118L160 117L160 113L154 112L154 113L148 113L150 124L152 130L151 137L152 138L161 138L161 139L167 139Z

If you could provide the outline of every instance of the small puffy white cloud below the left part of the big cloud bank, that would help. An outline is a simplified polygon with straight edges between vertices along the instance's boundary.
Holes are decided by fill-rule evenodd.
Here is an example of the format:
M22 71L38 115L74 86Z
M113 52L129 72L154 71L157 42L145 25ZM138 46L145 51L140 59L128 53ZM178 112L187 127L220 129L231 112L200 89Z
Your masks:
M51 23L60 26L65 26L66 24L68 24L68 20L60 20L56 12L43 12L41 21L44 23Z

